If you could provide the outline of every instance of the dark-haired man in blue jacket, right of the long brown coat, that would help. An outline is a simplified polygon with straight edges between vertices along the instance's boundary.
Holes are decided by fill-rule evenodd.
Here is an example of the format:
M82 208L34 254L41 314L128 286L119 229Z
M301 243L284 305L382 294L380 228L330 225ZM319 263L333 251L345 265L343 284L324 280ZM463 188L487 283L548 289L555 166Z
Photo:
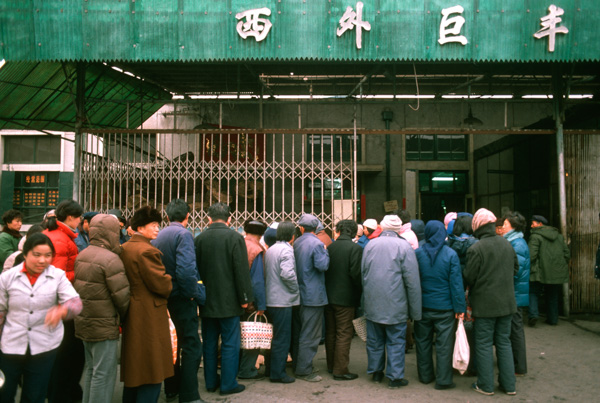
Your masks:
M170 224L158 233L152 244L162 252L165 270L173 279L173 291L167 306L177 331L177 361L175 375L165 379L165 394L180 402L199 402L198 368L202 358L202 343L198 336L198 305L206 294L196 267L194 237L186 229L189 207L182 199L167 205Z

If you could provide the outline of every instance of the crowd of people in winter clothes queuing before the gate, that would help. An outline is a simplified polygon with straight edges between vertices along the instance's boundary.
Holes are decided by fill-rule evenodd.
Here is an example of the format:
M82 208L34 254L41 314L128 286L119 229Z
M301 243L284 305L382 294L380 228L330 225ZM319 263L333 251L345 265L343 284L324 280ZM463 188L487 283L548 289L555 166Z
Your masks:
M374 383L408 385L405 354L414 343L418 380L454 388L462 320L472 389L494 394L495 346L498 389L514 395L516 377L527 374L525 309L535 326L543 292L546 322L558 321L570 254L539 215L528 243L521 214L497 219L483 208L427 224L406 210L379 223L341 220L333 239L311 214L270 226L250 219L241 234L224 203L208 208L209 225L194 238L184 200L165 210L162 229L150 206L125 229L118 210L84 214L65 200L26 236L18 211L2 216L0 402L12 402L19 384L24 401L111 402L120 338L123 402L156 402L163 383L167 400L202 401L202 358L206 390L222 396L244 391L239 379L319 382L325 375L313 359L322 342L328 373L352 381L359 375L350 371L350 346L361 320ZM261 351L240 349L240 321L263 314L273 325L264 373Z

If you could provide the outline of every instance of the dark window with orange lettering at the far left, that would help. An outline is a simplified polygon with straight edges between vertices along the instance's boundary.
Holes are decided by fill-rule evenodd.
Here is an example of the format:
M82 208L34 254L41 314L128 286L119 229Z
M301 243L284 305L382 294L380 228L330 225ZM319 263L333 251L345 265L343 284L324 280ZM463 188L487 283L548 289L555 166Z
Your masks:
M13 208L23 214L24 223L40 223L56 207L58 177L58 172L15 172Z

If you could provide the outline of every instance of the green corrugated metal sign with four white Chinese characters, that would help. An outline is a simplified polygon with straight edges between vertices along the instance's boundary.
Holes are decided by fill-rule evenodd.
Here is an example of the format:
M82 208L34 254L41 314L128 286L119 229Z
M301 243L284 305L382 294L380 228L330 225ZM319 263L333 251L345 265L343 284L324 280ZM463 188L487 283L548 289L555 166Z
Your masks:
M599 24L598 0L3 0L0 54L8 61L598 61Z

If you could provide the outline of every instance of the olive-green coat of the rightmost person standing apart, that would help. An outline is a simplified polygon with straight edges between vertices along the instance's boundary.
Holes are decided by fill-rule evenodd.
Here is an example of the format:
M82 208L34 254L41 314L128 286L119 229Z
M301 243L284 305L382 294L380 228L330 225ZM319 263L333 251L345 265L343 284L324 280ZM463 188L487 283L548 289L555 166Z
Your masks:
M532 228L529 254L530 281L539 281L542 284L563 284L569 281L571 252L556 228L547 225Z

